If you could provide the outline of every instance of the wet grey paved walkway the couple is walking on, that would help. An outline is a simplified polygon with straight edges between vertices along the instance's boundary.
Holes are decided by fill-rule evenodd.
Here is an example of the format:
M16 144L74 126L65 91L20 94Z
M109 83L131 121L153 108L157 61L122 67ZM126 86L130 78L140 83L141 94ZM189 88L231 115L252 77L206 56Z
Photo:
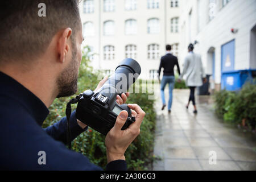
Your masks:
M167 108L161 110L160 98L156 101L154 155L162 160L154 163L154 170L256 170L255 135L216 118L208 96L197 96L199 113L193 114L192 105L185 108L188 94L174 90L171 115ZM216 152L215 165L209 164L210 151Z

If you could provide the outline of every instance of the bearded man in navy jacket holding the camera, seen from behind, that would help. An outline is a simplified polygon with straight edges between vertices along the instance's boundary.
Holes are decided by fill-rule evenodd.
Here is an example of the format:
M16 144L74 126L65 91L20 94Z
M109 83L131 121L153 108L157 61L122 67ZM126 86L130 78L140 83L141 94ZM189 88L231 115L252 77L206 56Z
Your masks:
M0 169L98 170L100 167L65 147L67 119L43 130L48 107L56 97L77 92L81 63L82 25L77 0L45 0L46 17L38 16L42 1L0 2ZM102 80L98 87L104 84ZM117 97L123 104L129 94ZM138 136L144 111L133 109L136 122L121 130L122 111L105 138L109 170L125 170L125 151ZM72 139L87 129L71 114ZM38 163L44 151L46 163Z

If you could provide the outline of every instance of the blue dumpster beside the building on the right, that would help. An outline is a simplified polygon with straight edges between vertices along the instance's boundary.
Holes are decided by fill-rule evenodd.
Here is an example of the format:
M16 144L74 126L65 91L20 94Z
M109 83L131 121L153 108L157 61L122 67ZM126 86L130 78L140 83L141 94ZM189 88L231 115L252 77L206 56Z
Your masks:
M256 69L223 72L221 76L221 89L229 91L240 90L247 81L253 80Z

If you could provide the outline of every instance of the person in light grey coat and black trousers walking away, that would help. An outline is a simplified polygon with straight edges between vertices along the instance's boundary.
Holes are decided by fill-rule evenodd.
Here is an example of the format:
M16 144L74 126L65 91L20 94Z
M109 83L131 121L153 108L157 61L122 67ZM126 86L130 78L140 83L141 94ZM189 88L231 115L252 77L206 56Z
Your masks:
M201 61L201 56L193 52L194 46L193 44L189 44L188 46L188 55L185 57L185 63L183 72L180 75L180 79L186 75L185 84L190 89L190 95L188 104L186 105L187 109L189 103L192 101L194 106L193 113L197 113L196 102L195 102L195 89L197 86L202 86L203 82L206 82L205 72L203 68L203 64ZM202 79L204 78L204 79Z

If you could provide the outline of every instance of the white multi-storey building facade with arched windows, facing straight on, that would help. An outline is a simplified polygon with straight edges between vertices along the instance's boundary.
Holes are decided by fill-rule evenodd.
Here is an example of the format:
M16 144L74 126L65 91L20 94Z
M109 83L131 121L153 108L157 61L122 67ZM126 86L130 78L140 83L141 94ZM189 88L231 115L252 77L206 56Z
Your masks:
M126 57L141 64L143 79L157 78L160 57L171 44L179 56L179 0L84 0L80 14L92 66L107 74Z

